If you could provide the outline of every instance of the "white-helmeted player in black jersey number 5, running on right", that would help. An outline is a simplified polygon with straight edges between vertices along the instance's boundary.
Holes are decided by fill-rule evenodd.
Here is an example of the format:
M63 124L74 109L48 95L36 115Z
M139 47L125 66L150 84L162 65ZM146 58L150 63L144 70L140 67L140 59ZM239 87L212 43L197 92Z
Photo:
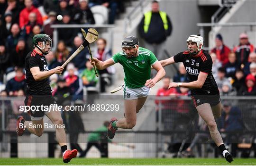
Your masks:
M221 135L217 129L214 117L221 116L219 90L212 74L212 60L208 52L202 50L203 38L200 35L190 35L187 39L187 51L161 60L162 66L183 62L186 68L189 83L170 83L169 88L184 87L191 89L195 107L208 125L212 140L219 147L223 156L230 163L232 155L226 149Z

